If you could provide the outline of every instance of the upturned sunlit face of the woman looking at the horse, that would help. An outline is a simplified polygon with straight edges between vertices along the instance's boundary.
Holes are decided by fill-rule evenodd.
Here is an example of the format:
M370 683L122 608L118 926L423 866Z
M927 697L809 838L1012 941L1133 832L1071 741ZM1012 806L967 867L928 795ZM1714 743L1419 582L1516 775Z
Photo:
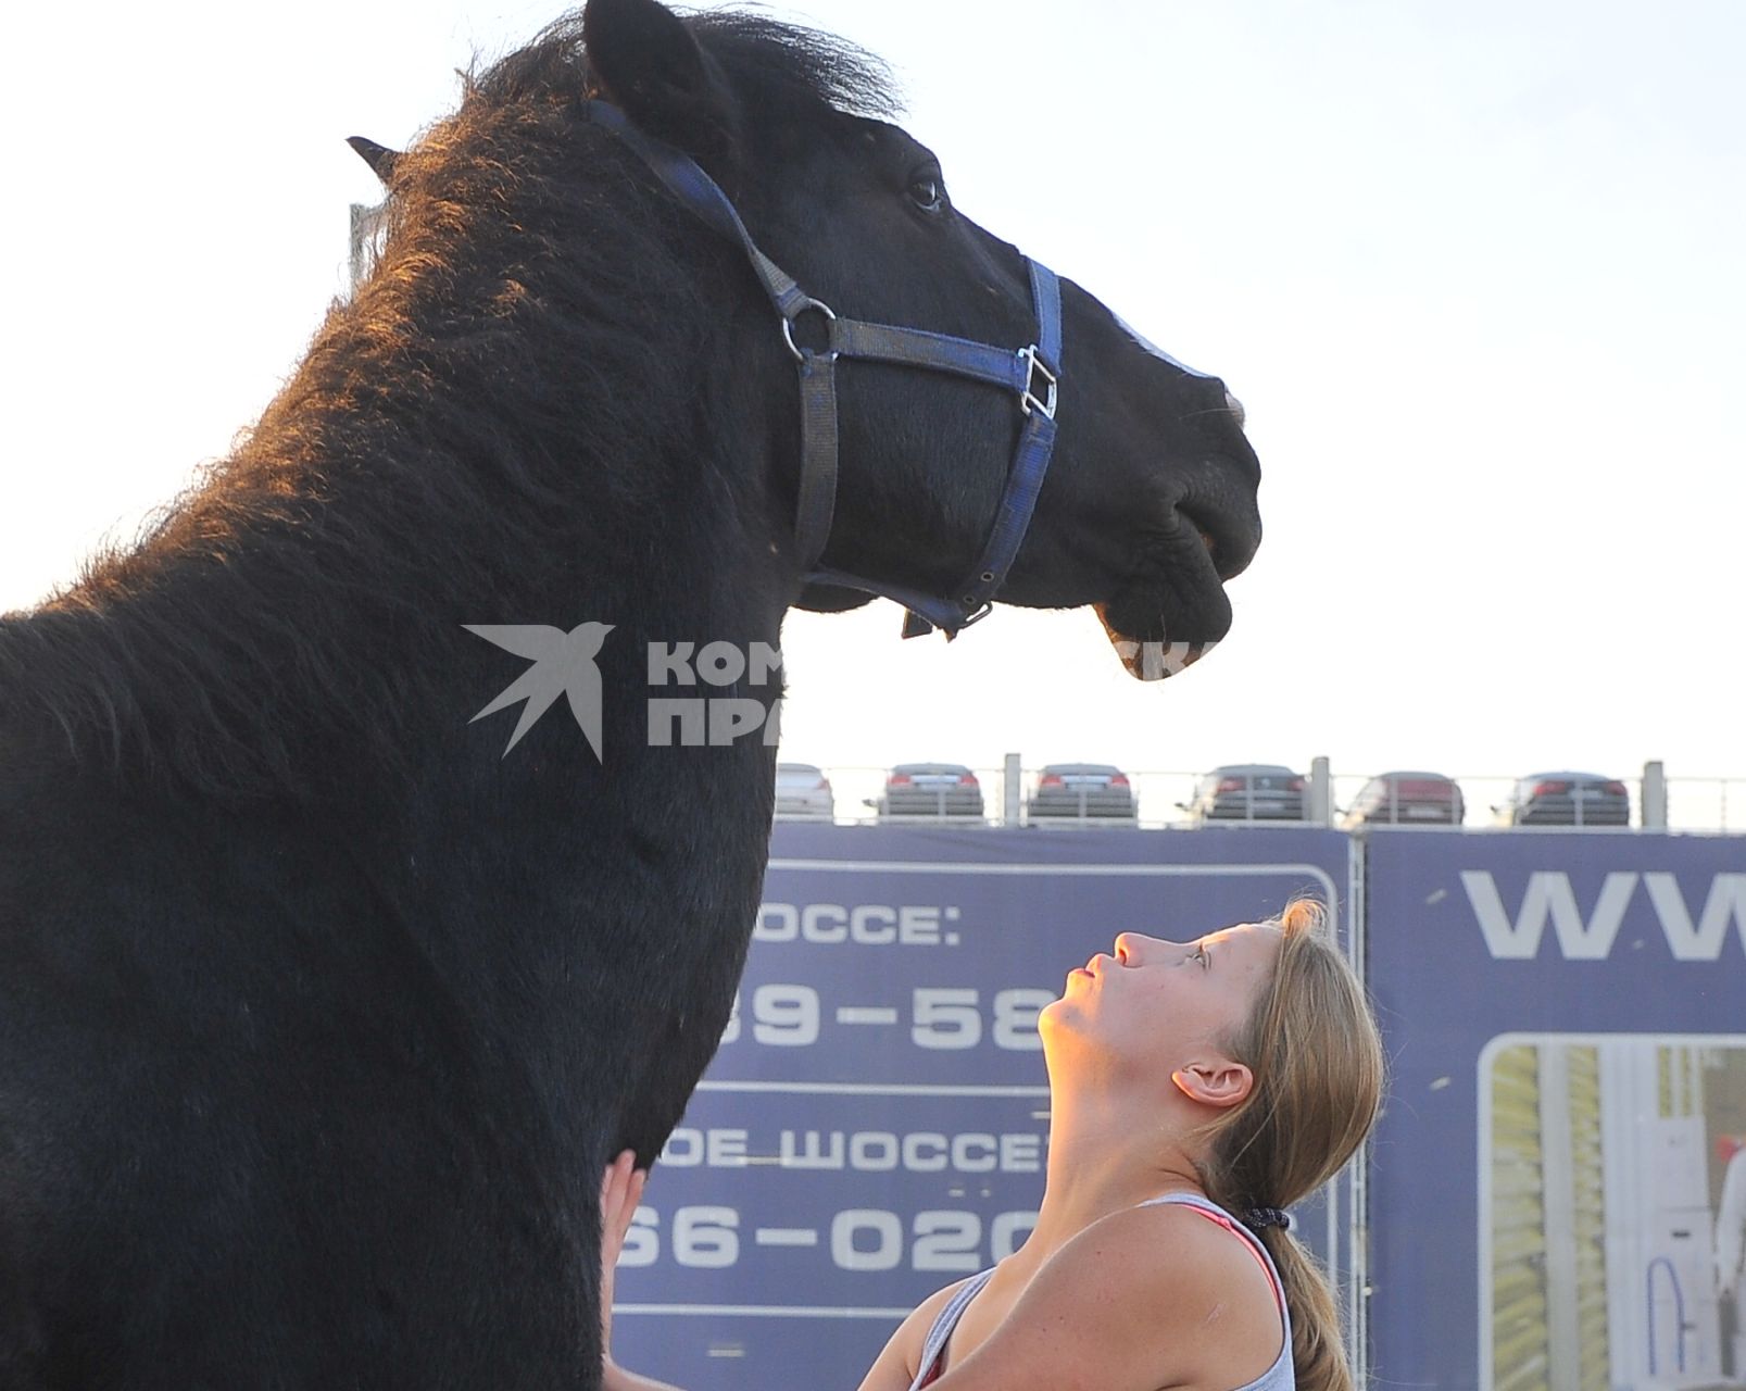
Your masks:
M1168 1077L1203 1054L1222 1054L1273 974L1280 930L1241 923L1173 942L1123 932L1067 976L1042 1012L1044 1038L1069 1035L1098 1054Z

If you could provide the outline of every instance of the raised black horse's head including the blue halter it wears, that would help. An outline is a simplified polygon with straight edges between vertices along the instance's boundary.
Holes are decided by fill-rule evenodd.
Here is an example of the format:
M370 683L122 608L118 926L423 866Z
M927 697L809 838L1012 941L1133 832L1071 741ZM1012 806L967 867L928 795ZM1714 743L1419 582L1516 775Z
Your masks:
M590 0L580 40L580 113L622 147L623 178L697 222L735 339L718 370L773 422L763 463L777 513L798 513L794 602L887 593L948 635L992 597L1091 604L1142 679L1224 637L1224 581L1261 539L1259 464L1224 382L1070 279L1049 291L1058 361L1013 368L1046 332L1030 262L953 206L864 54L656 0ZM391 176L391 152L360 154ZM978 380L922 361L941 351L992 367ZM1002 370L1016 382L992 389ZM1032 405L1053 417L1041 464Z

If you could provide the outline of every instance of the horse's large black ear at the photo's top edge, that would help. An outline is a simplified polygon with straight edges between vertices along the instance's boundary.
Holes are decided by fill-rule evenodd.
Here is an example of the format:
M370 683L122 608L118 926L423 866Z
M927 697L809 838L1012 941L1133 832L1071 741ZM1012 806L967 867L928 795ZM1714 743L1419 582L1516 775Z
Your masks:
M581 42L601 96L637 126L695 155L726 152L726 87L679 16L658 0L588 0Z

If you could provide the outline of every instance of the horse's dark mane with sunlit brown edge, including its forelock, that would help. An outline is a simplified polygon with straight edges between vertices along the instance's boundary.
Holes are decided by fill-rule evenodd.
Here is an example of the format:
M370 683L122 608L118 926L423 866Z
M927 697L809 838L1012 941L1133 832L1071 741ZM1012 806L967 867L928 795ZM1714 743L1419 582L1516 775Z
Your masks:
M688 24L793 119L897 110L878 59L829 35L746 12ZM662 553L721 552L721 461L656 443L697 429L672 344L719 332L707 234L622 195L623 154L578 138L587 79L580 14L463 75L459 108L395 166L375 274L253 429L131 541L0 618L0 737L31 717L73 757L206 798L309 796L340 756L416 777L409 712L470 714L433 627L564 621L529 611L515 557L576 557L550 564L599 607Z

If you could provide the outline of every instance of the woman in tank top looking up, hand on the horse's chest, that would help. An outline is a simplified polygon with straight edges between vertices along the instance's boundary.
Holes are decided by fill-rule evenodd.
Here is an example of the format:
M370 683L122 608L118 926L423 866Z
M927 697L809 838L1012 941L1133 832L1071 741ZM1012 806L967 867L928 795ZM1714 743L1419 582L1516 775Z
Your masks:
M1383 1086L1364 988L1322 927L1299 901L1193 942L1124 932L1069 974L1039 1018L1037 1227L910 1314L861 1391L1350 1391L1332 1293L1283 1213L1351 1157ZM601 1190L608 1316L630 1162ZM608 1351L604 1388L660 1384Z

